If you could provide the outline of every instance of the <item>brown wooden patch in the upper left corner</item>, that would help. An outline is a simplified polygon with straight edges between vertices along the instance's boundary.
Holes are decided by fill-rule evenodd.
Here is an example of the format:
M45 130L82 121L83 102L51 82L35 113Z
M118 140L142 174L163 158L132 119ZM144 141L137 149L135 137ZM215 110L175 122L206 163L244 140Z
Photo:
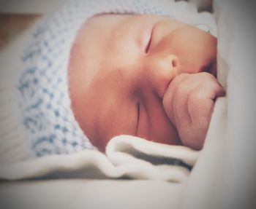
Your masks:
M40 15L0 14L0 49L29 28Z

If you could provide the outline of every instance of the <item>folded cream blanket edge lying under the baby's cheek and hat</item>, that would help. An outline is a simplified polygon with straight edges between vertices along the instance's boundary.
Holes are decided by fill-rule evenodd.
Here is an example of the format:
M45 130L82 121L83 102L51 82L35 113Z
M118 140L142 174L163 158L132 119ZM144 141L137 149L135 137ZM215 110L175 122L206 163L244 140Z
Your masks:
M81 151L1 165L0 177L23 178L137 178L181 182L189 176L198 152L184 146L165 146L130 135L108 143L106 154ZM184 166L181 166L184 165Z

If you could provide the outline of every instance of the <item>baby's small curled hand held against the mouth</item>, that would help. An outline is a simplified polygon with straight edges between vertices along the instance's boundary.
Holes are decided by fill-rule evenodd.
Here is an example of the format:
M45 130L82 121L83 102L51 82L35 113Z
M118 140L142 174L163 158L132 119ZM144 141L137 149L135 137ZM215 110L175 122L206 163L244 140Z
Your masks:
M163 106L184 146L203 148L214 101L223 95L225 90L217 79L205 72L180 74L170 82Z

